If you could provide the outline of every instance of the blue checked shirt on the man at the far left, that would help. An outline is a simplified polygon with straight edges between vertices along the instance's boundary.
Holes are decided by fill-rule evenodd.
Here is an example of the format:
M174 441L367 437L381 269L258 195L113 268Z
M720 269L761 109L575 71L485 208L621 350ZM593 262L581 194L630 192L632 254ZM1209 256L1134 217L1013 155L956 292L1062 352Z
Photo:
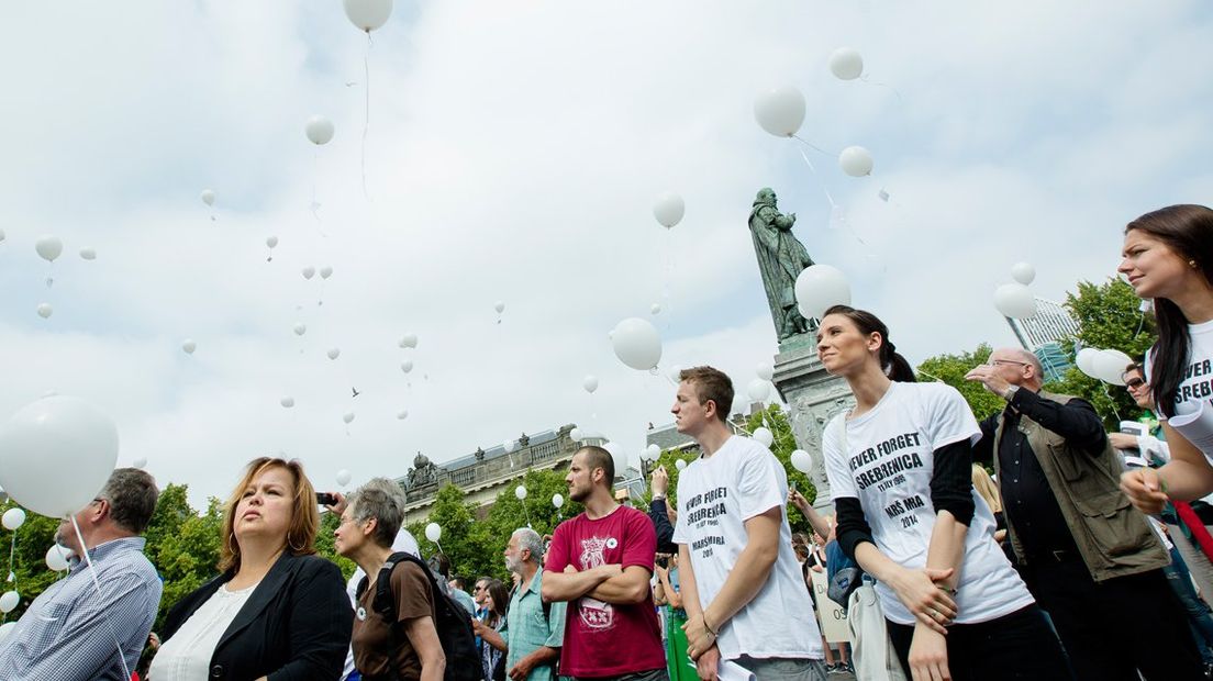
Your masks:
M0 642L0 679L121 681L119 643L133 673L164 588L143 544L142 537L125 537L92 549L99 595L89 566L76 561L34 599Z

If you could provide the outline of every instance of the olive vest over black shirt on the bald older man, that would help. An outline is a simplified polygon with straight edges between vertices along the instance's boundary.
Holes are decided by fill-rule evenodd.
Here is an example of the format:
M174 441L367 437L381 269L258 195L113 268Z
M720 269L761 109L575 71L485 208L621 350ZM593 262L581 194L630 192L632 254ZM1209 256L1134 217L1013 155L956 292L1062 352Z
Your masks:
M1043 391L1038 395L1063 405L1072 399ZM998 429L993 436L993 470L1000 485L1002 475L998 474L998 448L1006 423L1006 418L998 419ZM1150 528L1150 522L1121 492L1123 465L1110 442L1105 442L1103 452L1092 454L1071 447L1065 437L1024 414L1019 417L1019 431L1027 437L1027 443L1049 481L1058 507L1061 508L1061 516L1070 526L1070 533L1074 534L1074 542L1078 545L1092 579L1103 582L1157 570L1171 562L1171 556ZM1026 565L1024 548L1009 519L1007 528L1015 556Z

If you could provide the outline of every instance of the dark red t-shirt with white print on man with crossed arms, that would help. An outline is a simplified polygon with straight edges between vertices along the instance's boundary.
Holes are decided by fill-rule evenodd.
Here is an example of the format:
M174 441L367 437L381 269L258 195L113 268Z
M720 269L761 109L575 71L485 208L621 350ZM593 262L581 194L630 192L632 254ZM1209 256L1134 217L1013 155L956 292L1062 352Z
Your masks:
M619 507L598 520L586 514L556 528L543 570L564 572L599 565L638 565L653 572L657 533L643 513ZM617 676L664 669L666 651L653 596L634 605L611 605L582 596L569 602L560 649L562 676Z

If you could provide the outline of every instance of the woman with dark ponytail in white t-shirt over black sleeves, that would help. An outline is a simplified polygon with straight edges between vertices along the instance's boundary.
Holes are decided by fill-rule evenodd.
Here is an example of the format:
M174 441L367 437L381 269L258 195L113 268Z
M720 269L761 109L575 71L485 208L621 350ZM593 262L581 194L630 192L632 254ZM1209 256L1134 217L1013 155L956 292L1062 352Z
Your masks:
M888 337L871 313L836 305L818 357L856 402L822 437L838 543L877 579L902 665L928 680L1071 679L973 490L973 412L955 388L915 383Z

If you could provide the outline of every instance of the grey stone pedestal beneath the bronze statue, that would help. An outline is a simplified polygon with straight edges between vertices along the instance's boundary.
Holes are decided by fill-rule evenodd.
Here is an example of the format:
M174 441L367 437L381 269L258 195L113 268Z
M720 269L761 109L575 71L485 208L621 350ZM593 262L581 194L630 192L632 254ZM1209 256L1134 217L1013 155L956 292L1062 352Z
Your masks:
M775 355L774 383L787 402L797 446L813 456L809 477L818 488L813 507L821 513L833 513L830 482L822 467L821 431L835 414L854 406L850 388L843 378L826 373L818 361L815 338L809 333L780 343Z

